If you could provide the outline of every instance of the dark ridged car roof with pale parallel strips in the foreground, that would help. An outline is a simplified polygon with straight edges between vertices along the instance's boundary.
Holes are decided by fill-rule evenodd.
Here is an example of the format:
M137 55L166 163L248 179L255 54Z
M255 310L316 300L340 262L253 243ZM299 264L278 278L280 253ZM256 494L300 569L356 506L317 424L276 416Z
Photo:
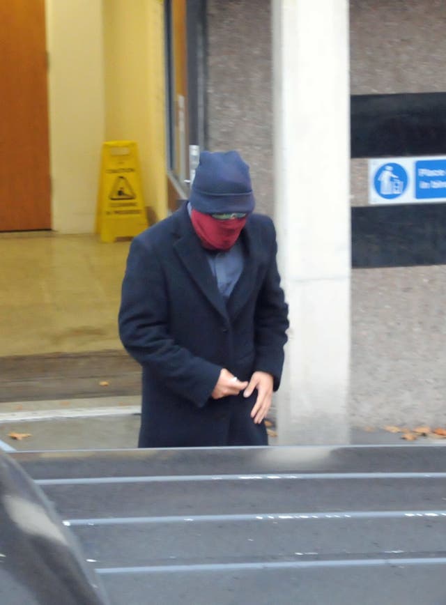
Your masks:
M446 602L446 450L12 454L113 604Z

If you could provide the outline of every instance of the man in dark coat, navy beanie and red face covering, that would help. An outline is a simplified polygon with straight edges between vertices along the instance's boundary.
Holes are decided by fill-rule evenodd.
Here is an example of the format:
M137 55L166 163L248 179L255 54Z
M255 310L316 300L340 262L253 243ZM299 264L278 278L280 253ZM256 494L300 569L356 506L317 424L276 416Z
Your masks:
M119 328L143 369L139 447L267 445L288 307L249 167L203 151L189 202L134 238Z

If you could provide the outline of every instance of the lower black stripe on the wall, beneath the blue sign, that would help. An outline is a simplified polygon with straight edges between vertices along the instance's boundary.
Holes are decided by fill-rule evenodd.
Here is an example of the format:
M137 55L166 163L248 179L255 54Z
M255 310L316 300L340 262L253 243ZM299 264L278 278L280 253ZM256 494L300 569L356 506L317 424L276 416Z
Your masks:
M351 209L353 268L446 264L446 203Z

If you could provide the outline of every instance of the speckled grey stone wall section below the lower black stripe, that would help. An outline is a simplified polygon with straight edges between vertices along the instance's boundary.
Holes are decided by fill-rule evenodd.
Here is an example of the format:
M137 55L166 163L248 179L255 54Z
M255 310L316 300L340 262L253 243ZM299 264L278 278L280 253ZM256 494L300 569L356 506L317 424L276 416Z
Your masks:
M446 424L446 266L355 269L354 425Z

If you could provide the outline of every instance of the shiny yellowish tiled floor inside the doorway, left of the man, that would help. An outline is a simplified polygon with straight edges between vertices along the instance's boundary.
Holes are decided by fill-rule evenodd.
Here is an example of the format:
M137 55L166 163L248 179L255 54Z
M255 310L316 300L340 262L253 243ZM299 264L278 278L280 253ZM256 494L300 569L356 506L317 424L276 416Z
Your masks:
M0 234L0 356L121 349L117 313L130 243Z

